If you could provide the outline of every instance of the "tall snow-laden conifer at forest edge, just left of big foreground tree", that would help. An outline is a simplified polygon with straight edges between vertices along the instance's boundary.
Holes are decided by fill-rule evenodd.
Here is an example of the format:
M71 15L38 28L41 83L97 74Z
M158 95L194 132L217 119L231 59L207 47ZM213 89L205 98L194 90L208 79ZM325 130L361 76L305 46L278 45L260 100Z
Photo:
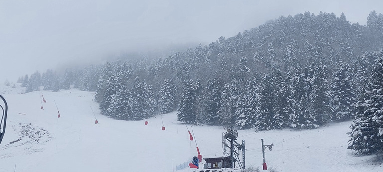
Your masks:
M333 119L345 121L355 118L356 93L353 78L350 75L349 65L340 62L336 65L331 82L331 105L334 109Z

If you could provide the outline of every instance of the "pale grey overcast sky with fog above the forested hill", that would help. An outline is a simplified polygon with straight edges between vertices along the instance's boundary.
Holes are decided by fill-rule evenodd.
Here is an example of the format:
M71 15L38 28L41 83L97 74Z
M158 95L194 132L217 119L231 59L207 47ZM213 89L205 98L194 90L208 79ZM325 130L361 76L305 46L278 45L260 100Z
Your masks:
M204 45L305 11L365 25L373 10L383 13L383 0L0 0L0 84L121 52Z

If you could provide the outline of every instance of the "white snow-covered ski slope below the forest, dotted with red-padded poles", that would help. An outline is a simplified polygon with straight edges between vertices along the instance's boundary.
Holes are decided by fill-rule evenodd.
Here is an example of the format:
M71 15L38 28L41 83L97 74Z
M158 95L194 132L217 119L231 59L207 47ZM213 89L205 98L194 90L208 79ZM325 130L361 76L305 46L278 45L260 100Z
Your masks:
M19 86L0 86L9 107L0 172L194 172L177 167L198 154L197 146L202 158L223 156L222 126L186 126L176 112L141 121L112 119L100 114L94 92L77 89L23 92ZM274 145L265 150L267 167L278 172L382 172L382 155L355 156L347 149L351 123L238 130L237 142L245 140L246 167L262 169L264 139Z

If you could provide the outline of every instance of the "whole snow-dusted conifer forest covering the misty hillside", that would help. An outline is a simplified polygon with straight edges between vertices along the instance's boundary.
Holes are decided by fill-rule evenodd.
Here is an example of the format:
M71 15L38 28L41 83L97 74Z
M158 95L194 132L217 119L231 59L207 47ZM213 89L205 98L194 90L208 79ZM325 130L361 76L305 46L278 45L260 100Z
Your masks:
M95 91L101 113L142 120L177 111L187 124L313 129L354 120L349 149L383 150L383 15L281 16L167 57L136 57L20 77L26 92Z

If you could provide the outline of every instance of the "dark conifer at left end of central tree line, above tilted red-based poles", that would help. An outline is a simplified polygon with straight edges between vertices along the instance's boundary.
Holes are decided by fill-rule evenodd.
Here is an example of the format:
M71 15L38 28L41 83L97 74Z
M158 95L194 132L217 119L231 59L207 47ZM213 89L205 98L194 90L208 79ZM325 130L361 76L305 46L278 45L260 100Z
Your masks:
M196 123L196 91L196 86L192 80L187 80L184 82L181 101L177 112L178 121L185 122L186 124Z

